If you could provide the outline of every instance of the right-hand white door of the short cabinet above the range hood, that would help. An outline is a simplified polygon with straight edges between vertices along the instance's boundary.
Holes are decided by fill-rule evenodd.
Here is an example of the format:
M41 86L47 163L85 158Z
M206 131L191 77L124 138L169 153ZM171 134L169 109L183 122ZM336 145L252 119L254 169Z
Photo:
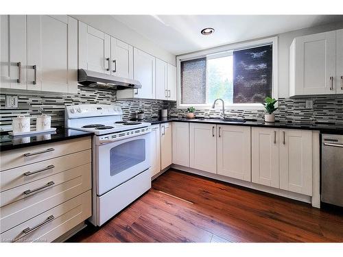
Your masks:
M111 74L133 79L133 47L117 38L111 38Z

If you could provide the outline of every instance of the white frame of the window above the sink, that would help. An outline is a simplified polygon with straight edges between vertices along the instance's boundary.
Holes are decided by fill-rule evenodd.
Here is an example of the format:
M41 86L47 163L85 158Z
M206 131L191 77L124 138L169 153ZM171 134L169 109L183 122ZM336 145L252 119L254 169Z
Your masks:
M239 42L230 45L224 45L222 47L215 47L197 51L194 53L186 53L184 55L176 56L176 84L177 84L177 101L176 108L185 109L193 106L200 110L209 109L212 103L181 103L181 74L180 74L180 63L185 60L193 60L198 58L218 58L221 56L228 56L233 51L250 49L253 47L261 47L263 45L272 45L272 97L278 99L278 37L274 36L271 38L263 38L259 40L251 40L248 42ZM207 68L206 68L206 86L207 86ZM206 95L207 99L207 95ZM233 110L263 110L263 105L260 103L233 103L226 104L225 108Z

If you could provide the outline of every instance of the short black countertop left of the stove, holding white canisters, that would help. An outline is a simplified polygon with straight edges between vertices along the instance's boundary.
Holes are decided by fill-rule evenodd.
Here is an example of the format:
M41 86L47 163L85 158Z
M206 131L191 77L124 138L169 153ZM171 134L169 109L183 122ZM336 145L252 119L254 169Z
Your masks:
M91 136L93 133L79 130L69 130L65 127L57 127L56 132L36 134L33 136L10 136L7 132L0 134L0 151L8 151L34 145L43 145L73 138Z

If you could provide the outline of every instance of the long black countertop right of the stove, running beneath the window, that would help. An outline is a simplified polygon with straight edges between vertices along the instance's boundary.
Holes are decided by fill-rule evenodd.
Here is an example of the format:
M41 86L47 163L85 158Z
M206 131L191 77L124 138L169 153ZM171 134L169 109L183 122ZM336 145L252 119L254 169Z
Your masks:
M281 129L298 129L298 130L319 130L322 134L343 134L343 124L337 125L333 123L324 124L324 123L297 123L297 122L279 122L268 123L264 121L257 120L248 120L246 122L237 122L237 121L221 121L220 119L211 119L211 118L195 118L195 119L186 119L180 117L167 117L167 118L151 118L144 119L143 121L149 122L152 125L167 123L170 121L179 121L179 122L196 122L196 123L214 123L214 124L223 124L223 125L241 125L241 126L250 126L250 127L275 127Z

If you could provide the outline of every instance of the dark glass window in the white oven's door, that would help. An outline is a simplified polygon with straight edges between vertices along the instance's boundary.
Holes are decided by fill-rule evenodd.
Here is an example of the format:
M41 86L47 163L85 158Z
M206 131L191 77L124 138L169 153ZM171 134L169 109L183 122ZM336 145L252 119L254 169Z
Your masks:
M132 140L110 149L110 175L117 175L145 160L145 140Z

